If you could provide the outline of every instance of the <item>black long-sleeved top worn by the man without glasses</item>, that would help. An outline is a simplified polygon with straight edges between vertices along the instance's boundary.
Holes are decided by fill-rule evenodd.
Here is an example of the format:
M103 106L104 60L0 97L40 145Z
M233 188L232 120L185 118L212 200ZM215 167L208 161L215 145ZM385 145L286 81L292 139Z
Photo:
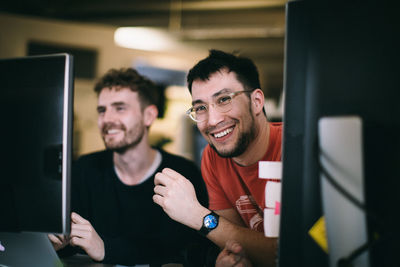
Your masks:
M192 182L198 200L208 207L198 167L182 157L160 152L162 161L155 173L166 167L179 172ZM195 230L170 219L153 202L155 173L141 184L125 185L115 173L111 151L85 155L74 163L72 211L87 219L103 239L103 262L185 263L194 260L188 257L202 257L203 249L210 244ZM199 249L195 252L198 255L193 254L193 248Z

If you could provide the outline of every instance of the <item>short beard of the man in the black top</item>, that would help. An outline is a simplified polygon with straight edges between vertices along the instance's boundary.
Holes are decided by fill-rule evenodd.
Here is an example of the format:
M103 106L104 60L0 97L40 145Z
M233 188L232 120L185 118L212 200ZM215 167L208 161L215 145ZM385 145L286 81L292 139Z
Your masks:
M118 141L113 139L106 140L104 137L105 133L111 128L118 128L122 130L124 132L124 137ZM122 154L128 149L136 147L142 141L145 134L144 128L145 127L143 125L136 125L135 127L127 130L124 125L106 124L102 129L104 145L106 149Z

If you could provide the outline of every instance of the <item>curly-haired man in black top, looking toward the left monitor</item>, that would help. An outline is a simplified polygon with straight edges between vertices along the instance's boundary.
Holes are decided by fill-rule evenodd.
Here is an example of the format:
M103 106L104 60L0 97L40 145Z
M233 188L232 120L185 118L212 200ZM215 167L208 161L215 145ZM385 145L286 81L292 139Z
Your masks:
M171 168L190 177L208 205L197 166L149 145L149 128L158 115L156 86L133 69L112 69L95 91L107 149L74 163L71 234L49 235L54 247L60 256L79 248L105 263L200 266L208 241L170 219L152 199L154 175Z

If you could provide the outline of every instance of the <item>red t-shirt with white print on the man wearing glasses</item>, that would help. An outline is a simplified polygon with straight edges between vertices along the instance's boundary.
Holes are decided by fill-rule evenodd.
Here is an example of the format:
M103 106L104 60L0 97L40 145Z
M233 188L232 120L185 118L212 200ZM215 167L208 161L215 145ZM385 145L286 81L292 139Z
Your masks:
M282 123L270 123L268 150L261 160L280 161L282 152ZM258 162L239 166L232 158L221 158L207 145L203 152L201 172L207 185L211 210L234 208L247 227L264 232L263 216L257 212L239 177L261 210L265 208L267 180L258 177Z

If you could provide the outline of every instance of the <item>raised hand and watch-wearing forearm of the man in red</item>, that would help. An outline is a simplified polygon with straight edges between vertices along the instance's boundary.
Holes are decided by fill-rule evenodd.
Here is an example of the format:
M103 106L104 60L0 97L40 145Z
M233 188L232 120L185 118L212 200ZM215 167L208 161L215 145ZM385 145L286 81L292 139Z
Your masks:
M171 169L164 169L162 173L156 174L154 183L154 202L173 220L200 230L203 218L210 210L197 201L190 181ZM221 248L226 241L234 239L242 245L254 265L275 266L276 239L266 238L263 233L239 226L243 225L243 221L233 208L219 210L217 213L220 215L219 225L207 238Z

